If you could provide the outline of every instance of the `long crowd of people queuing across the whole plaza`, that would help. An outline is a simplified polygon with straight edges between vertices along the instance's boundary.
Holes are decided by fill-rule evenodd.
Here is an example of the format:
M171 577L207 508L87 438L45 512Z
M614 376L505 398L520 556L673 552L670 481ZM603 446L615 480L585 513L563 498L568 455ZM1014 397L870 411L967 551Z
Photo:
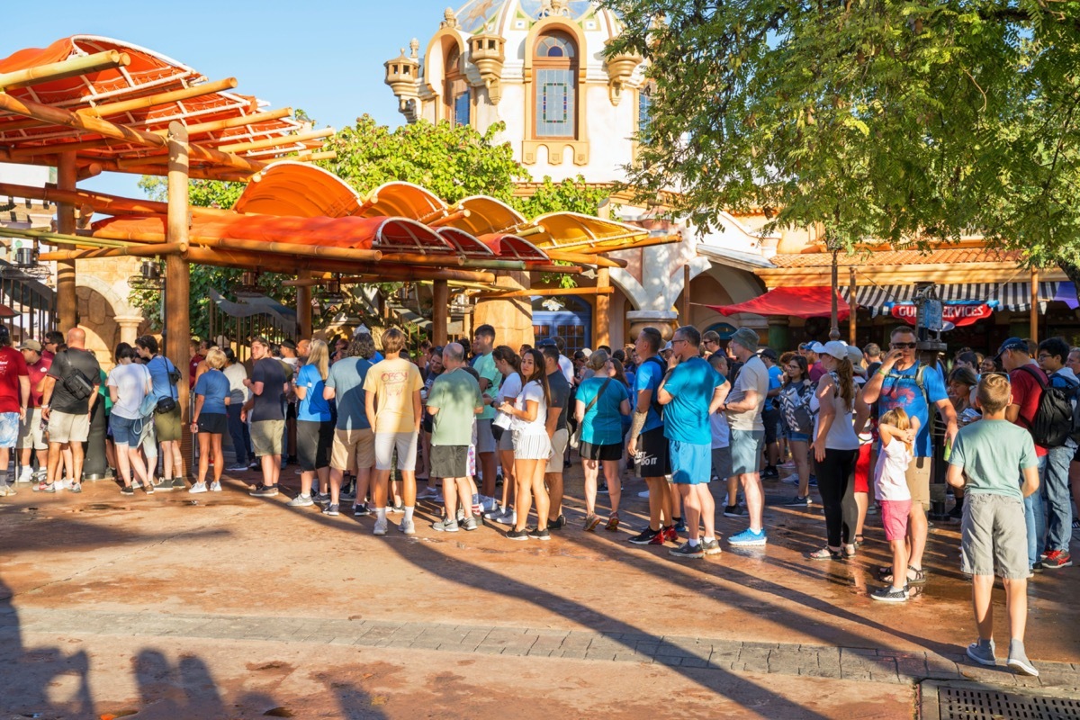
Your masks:
M721 553L718 510L745 521L730 545L766 545L762 480L784 468L795 486L784 504L806 508L815 488L824 511L825 542L809 560L855 556L866 516L880 513L892 562L879 569L872 597L903 602L927 582L936 454L955 498L949 515L962 520L962 569L974 578L980 640L969 655L993 661L997 574L1020 623L1010 664L1035 671L1014 608L1031 573L1072 563L1080 349L1061 338L1037 347L1010 338L994 357L963 351L947 367L936 354L920 358L907 326L885 351L829 341L780 354L759 348L750 328L724 347L692 326L667 342L647 327L633 345L572 356L558 337L517 350L496 340L483 325L471 342L424 343L410 355L396 328L382 334L381 352L367 332L330 343L255 338L249 369L230 348L193 343L199 452L188 487L181 372L154 337L121 343L106 373L79 328L16 350L0 326L0 495L18 483L80 492L97 403L124 494L217 492L222 472L252 470L260 479L251 494L272 498L294 462L300 488L291 507L320 505L333 516L351 502L354 516L374 516L376 535L389 531L390 514L414 534L418 499L427 499L445 511L435 531L473 531L486 519L508 540L549 540L568 525L563 473L576 449L584 531L619 530L622 480L633 472L647 485L649 513L629 542L674 543L672 556L702 558ZM226 433L235 453L229 467Z

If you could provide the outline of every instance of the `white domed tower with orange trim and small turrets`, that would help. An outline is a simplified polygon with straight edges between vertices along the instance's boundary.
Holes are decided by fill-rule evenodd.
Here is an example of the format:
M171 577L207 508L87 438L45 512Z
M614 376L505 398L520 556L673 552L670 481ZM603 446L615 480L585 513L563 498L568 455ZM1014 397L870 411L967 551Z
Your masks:
M537 179L616 182L648 112L640 57L608 60L619 18L591 0L471 0L447 9L411 82L404 56L387 83L409 122L423 118L507 130ZM391 74L393 77L391 77Z

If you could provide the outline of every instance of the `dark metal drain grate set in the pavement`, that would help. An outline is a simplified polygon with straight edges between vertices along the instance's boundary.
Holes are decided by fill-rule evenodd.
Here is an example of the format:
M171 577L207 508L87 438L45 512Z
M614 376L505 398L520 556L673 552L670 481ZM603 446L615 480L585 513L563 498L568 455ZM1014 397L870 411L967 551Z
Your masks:
M1070 697L935 684L940 720L1080 720L1080 701Z

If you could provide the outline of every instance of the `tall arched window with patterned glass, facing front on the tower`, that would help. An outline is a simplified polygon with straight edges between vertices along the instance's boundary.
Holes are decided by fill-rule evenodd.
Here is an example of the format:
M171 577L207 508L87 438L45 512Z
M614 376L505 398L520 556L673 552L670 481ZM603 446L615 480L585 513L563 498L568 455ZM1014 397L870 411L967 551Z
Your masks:
M534 55L536 105L532 128L537 138L578 135L578 47L564 32L540 37Z

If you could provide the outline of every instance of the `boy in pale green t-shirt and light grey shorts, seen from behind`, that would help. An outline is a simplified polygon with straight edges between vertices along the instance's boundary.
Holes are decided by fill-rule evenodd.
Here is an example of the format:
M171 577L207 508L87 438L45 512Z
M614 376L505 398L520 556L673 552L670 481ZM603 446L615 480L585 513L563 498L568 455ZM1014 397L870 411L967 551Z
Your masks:
M997 664L990 597L996 571L1005 588L1009 612L1007 665L1037 677L1039 671L1024 652L1029 576L1024 498L1039 489L1039 460L1031 434L1005 420L1011 402L1007 377L983 377L975 398L983 419L957 434L946 479L954 488L964 488L961 569L972 575L978 628L978 640L968 646L968 657L982 665Z

